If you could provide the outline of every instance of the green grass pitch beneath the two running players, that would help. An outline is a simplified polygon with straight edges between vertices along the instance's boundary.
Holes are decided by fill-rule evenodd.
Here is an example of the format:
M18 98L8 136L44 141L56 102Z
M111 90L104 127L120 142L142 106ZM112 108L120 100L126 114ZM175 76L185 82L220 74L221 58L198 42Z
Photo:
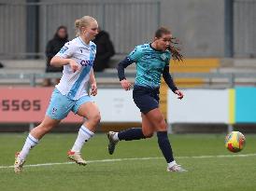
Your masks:
M82 150L85 167L69 163L66 151L77 134L48 134L31 151L21 174L12 166L27 134L0 134L0 190L207 191L256 190L256 135L247 135L245 149L232 154L224 134L170 135L176 160L188 172L166 172L156 137L121 142L113 156L107 136L96 134ZM31 166L39 164L38 166Z

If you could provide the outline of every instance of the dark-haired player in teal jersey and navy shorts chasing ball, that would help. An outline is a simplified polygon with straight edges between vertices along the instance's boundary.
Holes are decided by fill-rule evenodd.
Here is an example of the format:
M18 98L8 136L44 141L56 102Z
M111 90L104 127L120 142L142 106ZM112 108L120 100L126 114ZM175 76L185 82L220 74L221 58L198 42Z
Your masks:
M164 76L164 81L168 87L178 95L178 99L183 98L182 91L178 90L169 74L171 54L174 59L182 60L182 55L171 43L171 32L161 27L156 31L152 43L137 46L128 57L119 63L118 75L121 87L125 90L131 89L131 83L125 78L124 68L133 62L136 63L133 98L141 112L142 129L133 128L121 132L109 131L107 133L109 140L108 152L112 155L116 144L121 140L132 141L150 138L156 131L159 147L167 162L167 171L186 171L176 163L173 157L171 144L167 136L167 125L159 109L161 75Z

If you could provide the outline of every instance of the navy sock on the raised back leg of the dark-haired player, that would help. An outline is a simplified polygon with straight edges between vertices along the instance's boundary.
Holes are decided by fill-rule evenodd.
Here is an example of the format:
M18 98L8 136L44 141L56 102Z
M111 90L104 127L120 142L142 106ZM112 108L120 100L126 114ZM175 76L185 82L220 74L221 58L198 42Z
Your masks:
M145 139L145 136L141 128L132 128L128 130L122 130L118 134L119 140L132 141Z

